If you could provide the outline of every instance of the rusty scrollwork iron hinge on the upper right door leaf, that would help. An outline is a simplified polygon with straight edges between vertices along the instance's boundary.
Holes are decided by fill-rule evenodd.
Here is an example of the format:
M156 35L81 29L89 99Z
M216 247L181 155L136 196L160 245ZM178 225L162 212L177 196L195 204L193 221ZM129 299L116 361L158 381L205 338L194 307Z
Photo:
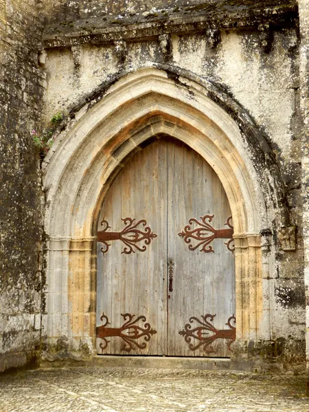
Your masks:
M189 225L185 226L181 233L178 233L185 243L189 243L190 251L195 251L198 247L201 247L201 252L209 253L214 252L212 246L208 246L214 239L229 239L229 242L225 242L227 249L233 253L234 247L230 247L231 242L233 242L233 226L231 225L231 216L227 218L225 226L229 229L214 229L209 222L211 222L214 215L205 215L201 217L201 222L195 218L189 220ZM206 221L208 220L208 222ZM197 227L196 227L197 225ZM192 240L196 240L197 244L191 244Z

